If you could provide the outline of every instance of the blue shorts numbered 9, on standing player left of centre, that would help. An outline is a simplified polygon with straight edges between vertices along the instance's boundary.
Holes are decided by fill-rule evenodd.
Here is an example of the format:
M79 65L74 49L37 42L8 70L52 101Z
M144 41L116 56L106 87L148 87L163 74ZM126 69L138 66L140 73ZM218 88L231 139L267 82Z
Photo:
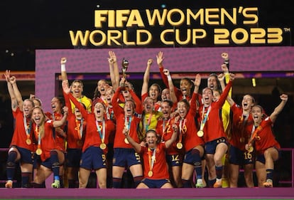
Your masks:
M100 147L89 147L82 153L80 167L94 170L106 168L106 155Z

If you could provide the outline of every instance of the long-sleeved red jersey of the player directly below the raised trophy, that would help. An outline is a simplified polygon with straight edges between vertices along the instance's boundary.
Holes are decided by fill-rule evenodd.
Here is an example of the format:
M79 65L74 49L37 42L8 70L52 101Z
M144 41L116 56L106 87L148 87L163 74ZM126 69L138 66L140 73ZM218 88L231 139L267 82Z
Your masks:
M124 142L124 139L126 138L123 134L124 126L126 123L126 117L124 116L124 109L121 108L119 105L119 102L117 102L117 99L119 98L121 88L118 88L116 92L114 93L114 96L112 98L112 107L114 109L114 116L116 118L116 133L114 137L114 148L127 148L132 149L133 147L131 144L126 144ZM137 97L137 95L134 93L133 90L129 90L129 93L131 93L132 98L135 101L136 104L136 113L127 120L127 123L129 125L129 135L135 140L135 142L139 143L138 135L137 135L137 127L138 123L141 120L142 115L142 104L141 100Z

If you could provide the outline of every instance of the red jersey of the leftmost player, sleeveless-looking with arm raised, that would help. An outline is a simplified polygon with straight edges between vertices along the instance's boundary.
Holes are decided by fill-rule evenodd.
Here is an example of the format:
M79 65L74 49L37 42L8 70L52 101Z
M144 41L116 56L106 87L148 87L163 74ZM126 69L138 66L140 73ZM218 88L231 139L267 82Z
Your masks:
M18 108L12 112L13 118L16 122L13 137L11 140L11 146L21 147L33 152L33 140L32 140L32 122L28 117L23 116L23 112ZM25 124L26 123L26 124ZM26 126L26 127L25 127ZM28 133L27 133L28 132ZM30 139L31 144L27 144L26 140Z

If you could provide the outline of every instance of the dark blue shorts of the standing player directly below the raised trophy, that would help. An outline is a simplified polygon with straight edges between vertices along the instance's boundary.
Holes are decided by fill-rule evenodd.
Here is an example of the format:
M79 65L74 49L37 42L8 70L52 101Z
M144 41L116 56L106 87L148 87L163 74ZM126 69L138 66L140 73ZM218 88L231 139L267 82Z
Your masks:
M134 164L141 164L140 154L134 149L114 148L112 166L130 167Z

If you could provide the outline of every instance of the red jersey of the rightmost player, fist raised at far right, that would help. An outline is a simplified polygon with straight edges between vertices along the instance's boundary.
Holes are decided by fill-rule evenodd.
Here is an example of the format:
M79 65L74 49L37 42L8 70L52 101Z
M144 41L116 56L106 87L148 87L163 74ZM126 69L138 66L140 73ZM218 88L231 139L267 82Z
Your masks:
M258 127L261 127L261 130L257 132L256 139L254 140L256 154L263 154L266 149L270 147L276 147L281 149L280 144L276 140L276 137L273 135L272 127L273 122L271 122L270 117L266 117L265 120L262 120L261 124ZM248 127L247 131L252 132L253 125Z

